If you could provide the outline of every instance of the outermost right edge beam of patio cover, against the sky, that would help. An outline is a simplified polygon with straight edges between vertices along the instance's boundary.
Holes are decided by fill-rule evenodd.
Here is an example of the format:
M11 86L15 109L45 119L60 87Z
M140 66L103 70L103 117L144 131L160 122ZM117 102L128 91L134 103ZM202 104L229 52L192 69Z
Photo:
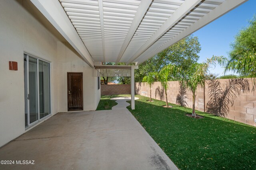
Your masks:
M174 38L170 39L164 45L159 47L152 54L146 56L143 59L140 59L137 64L143 63L144 61L146 61L150 57L160 53L164 49L170 47L172 44L174 44L174 43L180 41L182 38L194 33L195 31L204 27L208 23L220 18L221 16L223 16L224 14L229 12L230 10L236 8L237 6L241 5L242 3L246 2L246 1L248 1L248 0L226 0L220 6L216 7L212 12L210 12L209 14L206 14L206 16L204 16L201 20L199 20L198 22L190 25L190 27L188 27L187 29L182 31L180 34L176 35Z

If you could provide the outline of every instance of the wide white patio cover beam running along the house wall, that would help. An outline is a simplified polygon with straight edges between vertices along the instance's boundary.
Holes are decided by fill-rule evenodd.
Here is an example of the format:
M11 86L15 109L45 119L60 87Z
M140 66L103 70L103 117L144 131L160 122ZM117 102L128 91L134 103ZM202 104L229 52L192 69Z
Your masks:
M30 0L52 23L61 35L81 55L87 64L94 68L94 60L79 37L76 29L57 0Z

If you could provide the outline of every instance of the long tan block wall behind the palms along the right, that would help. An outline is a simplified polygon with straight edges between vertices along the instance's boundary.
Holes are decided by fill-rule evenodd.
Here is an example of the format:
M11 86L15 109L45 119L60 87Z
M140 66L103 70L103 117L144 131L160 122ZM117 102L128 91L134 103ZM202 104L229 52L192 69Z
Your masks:
M210 102L212 99L210 98L210 88L209 88L209 80L206 80L205 82L205 88L198 86L196 91L196 109L199 111L205 111L208 113L215 113L216 115L219 115L221 117L226 117L228 119L232 119L235 121L239 121L242 123L246 123L248 125L256 126L256 123L254 120L256 119L256 91L252 91L252 80L250 78L247 78L245 80L248 80L250 91L247 92L240 92L239 94L236 94L233 96L232 103L229 103L227 107L226 113L218 113L216 114L215 111L209 111L209 108L207 107L208 102ZM222 90L227 86L229 79L219 79L220 87ZM150 88L148 84L138 82L136 83L136 94L142 95L142 96L150 96ZM170 81L169 82L169 88L167 90L167 99L168 102L173 104L179 104L177 101L177 97L180 94L180 84L178 81ZM157 100L165 101L165 94L164 90L161 86L160 82L154 82L151 88L151 95L152 98ZM192 108L192 92L189 90L186 90L186 107ZM216 104L218 107L218 104ZM214 107L216 109L216 107ZM217 112L217 111L216 111Z

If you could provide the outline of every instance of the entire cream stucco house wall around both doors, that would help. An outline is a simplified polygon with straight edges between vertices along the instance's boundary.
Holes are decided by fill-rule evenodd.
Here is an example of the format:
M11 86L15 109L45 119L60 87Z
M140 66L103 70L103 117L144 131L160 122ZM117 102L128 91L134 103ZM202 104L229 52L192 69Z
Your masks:
M24 53L50 62L51 116L67 111L67 81L63 75L74 67L84 73L84 109L96 109L100 90L96 89L92 68L72 52L70 45L60 47L58 42L63 39L56 37L56 30L49 29L50 23L29 0L2 0L0 23L0 146L40 124L25 130ZM62 49L66 49L66 61L60 55ZM17 71L9 70L9 61L18 62Z

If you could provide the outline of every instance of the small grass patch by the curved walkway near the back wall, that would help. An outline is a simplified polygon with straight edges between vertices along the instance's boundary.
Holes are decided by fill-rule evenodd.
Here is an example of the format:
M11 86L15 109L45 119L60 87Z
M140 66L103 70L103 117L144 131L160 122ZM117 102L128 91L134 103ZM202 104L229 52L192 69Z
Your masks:
M112 95L112 96L101 96L100 102L96 110L111 110L113 106L116 106L117 103L115 100L110 100L111 98L116 98L120 96L131 96L130 94L122 94L122 95Z

